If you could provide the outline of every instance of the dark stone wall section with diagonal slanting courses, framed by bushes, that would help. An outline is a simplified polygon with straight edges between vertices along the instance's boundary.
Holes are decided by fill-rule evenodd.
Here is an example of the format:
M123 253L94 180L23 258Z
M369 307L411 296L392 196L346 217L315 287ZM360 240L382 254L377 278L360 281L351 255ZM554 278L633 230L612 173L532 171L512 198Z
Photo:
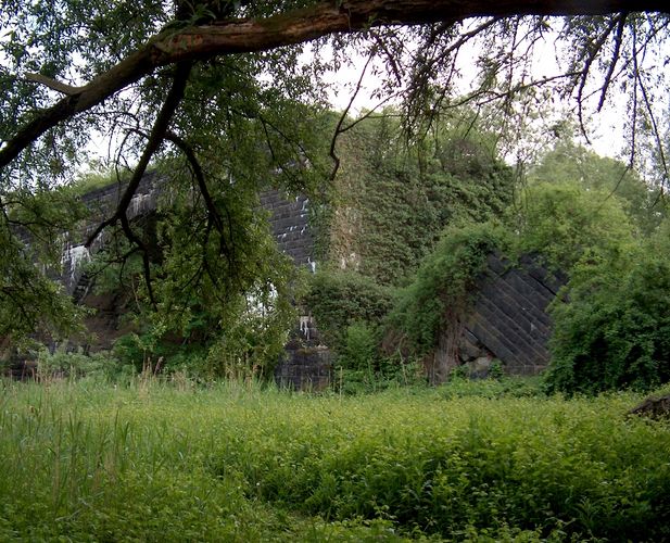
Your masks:
M484 377L497 359L507 374L540 372L549 362L552 319L546 310L565 282L566 277L548 273L531 256L514 266L503 255L490 254L473 303L454 325L457 329L441 331L440 344L458 336L455 356L438 349L434 366L465 364L471 376Z

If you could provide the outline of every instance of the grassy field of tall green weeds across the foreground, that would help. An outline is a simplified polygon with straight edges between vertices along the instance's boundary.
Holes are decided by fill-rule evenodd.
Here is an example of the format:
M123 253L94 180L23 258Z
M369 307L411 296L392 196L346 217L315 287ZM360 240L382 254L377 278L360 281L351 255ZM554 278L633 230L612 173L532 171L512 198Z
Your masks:
M670 425L631 393L0 387L0 541L670 538Z

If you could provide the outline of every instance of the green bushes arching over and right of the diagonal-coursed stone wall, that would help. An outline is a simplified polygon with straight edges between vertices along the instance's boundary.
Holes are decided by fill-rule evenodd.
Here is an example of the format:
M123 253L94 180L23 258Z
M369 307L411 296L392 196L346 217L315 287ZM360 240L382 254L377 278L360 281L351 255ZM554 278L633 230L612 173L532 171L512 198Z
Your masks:
M554 304L552 390L665 382L662 289L670 276L662 257L645 269L648 257L634 256L641 240L620 201L583 182L534 181L505 218L506 224L447 228L415 281L401 291L389 323L410 352L430 353L447 323L458 329L489 253L502 251L513 261L530 253L570 277ZM647 299L657 311L646 308Z

